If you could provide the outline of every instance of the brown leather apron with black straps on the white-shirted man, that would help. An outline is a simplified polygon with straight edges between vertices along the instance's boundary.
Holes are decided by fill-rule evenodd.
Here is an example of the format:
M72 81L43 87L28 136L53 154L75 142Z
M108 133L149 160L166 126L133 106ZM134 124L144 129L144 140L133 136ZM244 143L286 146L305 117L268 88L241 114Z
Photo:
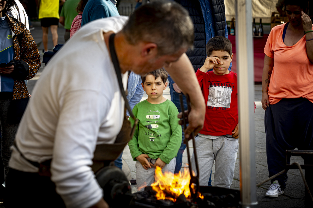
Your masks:
M125 148L126 144L133 137L136 126L138 124L138 119L136 119L134 114L132 113L131 108L128 104L128 100L126 98L126 93L123 87L123 82L122 82L122 77L121 77L121 69L120 69L120 65L119 65L116 52L115 52L115 47L114 47L114 37L115 37L115 33L110 35L109 47L110 47L110 55L111 55L111 59L115 68L120 91L125 101L124 119L123 119L123 125L121 128L121 131L116 136L115 142L113 144L99 144L96 146L95 152L94 152L94 158L92 160L93 164L91 165L93 172L97 172L100 168L108 166L110 162L117 159L117 157L121 154L121 152ZM133 128L131 128L131 123L128 121L126 117L126 109L130 113L130 116L135 120ZM26 157L24 157L23 153L18 149L15 142L13 145L16 147L18 152L21 154L21 156L25 160L27 160L29 163L39 168L38 173L40 176L48 176L48 177L51 176L50 164L51 164L52 159L44 161L42 163L30 161Z

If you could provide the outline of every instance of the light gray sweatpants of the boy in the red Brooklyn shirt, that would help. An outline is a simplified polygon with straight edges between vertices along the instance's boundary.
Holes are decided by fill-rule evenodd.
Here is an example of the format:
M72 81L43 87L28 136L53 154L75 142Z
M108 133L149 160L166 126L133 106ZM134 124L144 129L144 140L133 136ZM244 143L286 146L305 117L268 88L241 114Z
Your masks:
M215 160L214 186L230 188L233 181L238 139L229 140L225 136L208 139L198 136L196 147L199 164L199 185L208 186L208 181ZM192 154L192 169L196 173L194 153Z

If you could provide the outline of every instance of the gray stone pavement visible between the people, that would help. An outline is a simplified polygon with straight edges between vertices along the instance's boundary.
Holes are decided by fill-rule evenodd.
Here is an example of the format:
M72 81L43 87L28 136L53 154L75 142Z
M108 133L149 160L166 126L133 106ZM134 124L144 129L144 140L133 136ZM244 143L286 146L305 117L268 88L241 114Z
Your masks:
M64 43L64 28L59 28L59 43ZM35 30L31 31L36 44L38 45L39 51L42 51L42 32L40 27L36 27ZM49 50L52 50L52 37L49 33ZM32 80L28 81L28 90L31 94L33 86L36 81L39 79L41 72L44 70L44 64L42 64L40 70L38 71L38 75L34 77ZM256 183L265 180L268 178L268 169L267 169L267 160L266 160L266 137L264 132L264 110L261 107L261 85L254 85L254 100L256 101L256 111L254 114L255 121L255 154L256 154ZM164 96L167 99L170 99L169 89L164 92ZM146 94L143 99L146 99ZM240 142L240 140L239 140ZM193 148L190 144L190 151L192 153ZM131 158L128 146L125 147L122 158L126 161L131 170L132 178L136 178L136 168L134 165L134 161ZM235 166L235 174L233 178L232 189L240 189L239 184L239 154L237 157L237 162ZM291 157L292 162L299 162L303 164L303 160L301 157ZM184 152L183 155L183 165L182 168L187 166L187 151ZM270 183L267 182L262 186L257 187L257 200L259 202L258 207L283 207L283 208L292 208L292 207L304 207L304 184L302 178L300 176L299 170L289 170L287 187L285 189L285 193L275 199L265 198L265 192L268 189ZM212 183L214 184L214 166L212 170ZM132 186L132 191L136 191L136 186ZM0 204L1 207L1 204Z

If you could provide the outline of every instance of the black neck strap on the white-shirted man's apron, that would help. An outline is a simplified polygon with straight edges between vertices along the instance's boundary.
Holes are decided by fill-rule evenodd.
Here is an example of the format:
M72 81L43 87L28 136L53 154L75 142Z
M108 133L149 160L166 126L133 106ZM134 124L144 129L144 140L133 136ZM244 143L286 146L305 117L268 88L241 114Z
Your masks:
M120 68L120 64L118 62L116 52L115 52L115 47L114 47L114 37L115 37L115 33L110 35L110 38L109 38L109 47L110 47L111 59L112 59L112 62L113 62L114 68L115 68L115 72L116 72L118 84L120 86L121 94L122 94L124 101L125 101L125 107L127 108L129 114L131 115L131 118L136 120L136 117L134 116L133 112L131 111L131 107L128 104L128 99L126 97L126 93L124 90L124 86L123 86L123 82L122 82L122 76L121 76L121 68Z

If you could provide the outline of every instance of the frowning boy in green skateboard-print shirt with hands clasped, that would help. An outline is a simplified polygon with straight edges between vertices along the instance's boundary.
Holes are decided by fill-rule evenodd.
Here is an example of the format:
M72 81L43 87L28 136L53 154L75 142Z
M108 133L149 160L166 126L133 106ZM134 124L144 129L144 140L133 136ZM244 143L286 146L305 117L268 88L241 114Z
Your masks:
M182 128L178 124L178 110L163 97L167 87L167 72L161 68L141 78L142 87L148 99L136 104L133 114L139 120L135 133L128 146L136 161L137 189L154 183L156 166L162 172L175 170L175 157L182 140ZM130 117L133 125L134 120Z

